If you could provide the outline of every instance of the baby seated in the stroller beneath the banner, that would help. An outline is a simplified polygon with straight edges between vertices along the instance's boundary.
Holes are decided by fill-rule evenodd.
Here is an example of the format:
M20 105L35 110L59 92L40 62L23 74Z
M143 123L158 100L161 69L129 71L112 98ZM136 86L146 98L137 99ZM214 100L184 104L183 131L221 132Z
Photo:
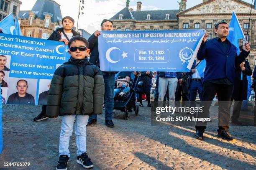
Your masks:
M123 81L122 81L123 80ZM130 91L130 83L131 78L126 76L124 79L116 80L117 88L114 89L114 97L119 93L119 97L122 97L124 94L127 94Z

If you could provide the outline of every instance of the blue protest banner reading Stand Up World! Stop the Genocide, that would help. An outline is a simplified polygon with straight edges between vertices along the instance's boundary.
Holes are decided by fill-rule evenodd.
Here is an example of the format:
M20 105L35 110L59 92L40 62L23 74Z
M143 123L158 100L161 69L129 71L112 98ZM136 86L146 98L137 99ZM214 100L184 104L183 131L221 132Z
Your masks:
M2 103L46 104L54 71L69 59L64 43L0 34L0 47Z

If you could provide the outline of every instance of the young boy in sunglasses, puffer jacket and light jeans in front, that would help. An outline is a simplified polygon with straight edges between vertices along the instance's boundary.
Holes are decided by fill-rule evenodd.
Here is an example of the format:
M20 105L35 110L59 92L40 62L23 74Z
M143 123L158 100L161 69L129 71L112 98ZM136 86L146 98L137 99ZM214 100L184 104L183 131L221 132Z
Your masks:
M77 138L77 163L93 167L86 153L86 125L90 114L102 114L104 80L100 69L87 60L89 43L74 36L69 43L70 59L56 69L51 80L46 116L62 116L59 137L59 162L56 170L67 170L69 138Z

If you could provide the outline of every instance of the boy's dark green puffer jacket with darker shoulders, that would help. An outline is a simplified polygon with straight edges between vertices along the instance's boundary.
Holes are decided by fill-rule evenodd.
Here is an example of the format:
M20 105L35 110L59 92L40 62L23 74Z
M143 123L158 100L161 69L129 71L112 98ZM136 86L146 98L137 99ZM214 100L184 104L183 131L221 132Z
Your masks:
M100 69L87 61L70 57L56 69L51 80L46 116L102 114L104 79Z

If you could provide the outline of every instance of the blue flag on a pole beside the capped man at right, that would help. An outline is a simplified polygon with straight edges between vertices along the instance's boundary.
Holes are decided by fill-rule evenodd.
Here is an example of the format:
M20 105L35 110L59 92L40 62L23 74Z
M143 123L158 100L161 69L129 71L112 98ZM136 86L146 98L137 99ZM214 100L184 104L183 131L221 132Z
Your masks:
M239 55L240 50L239 50L238 40L243 38L245 39L245 37L235 11L233 11L233 14L230 20L229 34L227 38L231 43L233 43L234 46L236 46L236 49L237 49L236 53L237 55Z

